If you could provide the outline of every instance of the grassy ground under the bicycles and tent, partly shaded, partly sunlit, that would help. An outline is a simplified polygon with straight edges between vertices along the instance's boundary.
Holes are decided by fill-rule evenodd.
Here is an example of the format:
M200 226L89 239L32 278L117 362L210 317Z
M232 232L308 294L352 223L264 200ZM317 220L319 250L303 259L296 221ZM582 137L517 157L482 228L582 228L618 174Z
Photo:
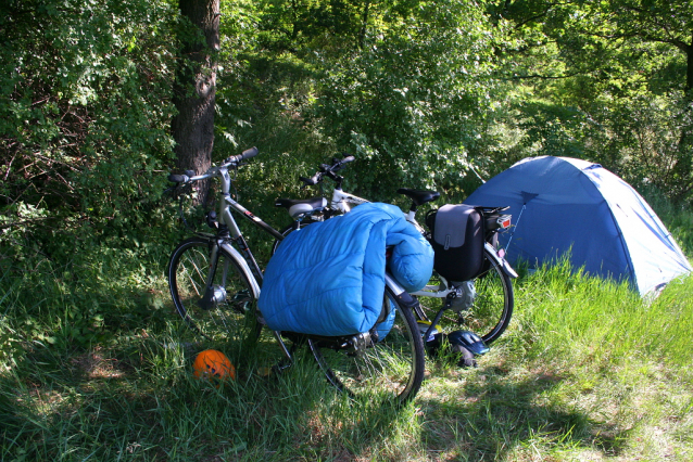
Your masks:
M693 278L645 303L565 265L522 275L479 367L428 362L396 410L336 394L303 355L263 375L280 358L266 334L188 343L163 248L33 258L0 266L2 461L693 460ZM237 381L193 378L210 346Z

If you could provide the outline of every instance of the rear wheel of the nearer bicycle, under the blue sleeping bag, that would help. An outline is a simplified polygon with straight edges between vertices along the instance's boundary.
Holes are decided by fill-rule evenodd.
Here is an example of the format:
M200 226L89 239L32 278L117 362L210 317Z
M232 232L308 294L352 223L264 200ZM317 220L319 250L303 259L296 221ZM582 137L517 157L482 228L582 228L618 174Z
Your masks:
M378 342L371 339L362 355L336 347L335 343L308 338L315 360L338 390L352 398L379 397L399 403L416 396L424 380L424 344L412 308L403 303L415 300L406 293L401 297L386 287L383 303L391 303L395 309L392 329Z

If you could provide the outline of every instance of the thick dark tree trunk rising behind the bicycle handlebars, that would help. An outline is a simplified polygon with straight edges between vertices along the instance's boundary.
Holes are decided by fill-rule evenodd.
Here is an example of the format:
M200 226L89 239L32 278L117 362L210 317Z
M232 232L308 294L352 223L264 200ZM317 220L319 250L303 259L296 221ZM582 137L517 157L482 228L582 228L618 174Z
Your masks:
M219 0L179 0L180 12L198 34L182 27L172 121L176 165L198 175L212 165L216 52L219 49ZM200 184L197 202L204 203L209 183Z

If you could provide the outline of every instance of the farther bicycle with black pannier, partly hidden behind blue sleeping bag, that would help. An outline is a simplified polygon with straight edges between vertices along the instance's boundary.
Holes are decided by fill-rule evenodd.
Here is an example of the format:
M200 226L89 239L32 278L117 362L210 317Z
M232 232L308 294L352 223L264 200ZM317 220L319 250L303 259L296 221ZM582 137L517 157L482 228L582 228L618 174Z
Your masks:
M345 168L353 162L353 156L344 155L343 158L332 158L332 164L320 165L318 171L311 178L299 177L303 182L303 188L322 184L325 177L335 182L335 189L328 205L315 210L311 217L301 223L294 223L282 230L282 235L297 229L297 224L306 226L314 221L329 219L337 215L349 213L353 207L368 203L368 200L358 197L343 191L343 177L337 172ZM416 220L418 207L440 197L436 191L421 191L401 188L399 194L403 194L412 201L408 211L405 214L416 229L428 240L431 239L429 230L421 227ZM319 197L314 197L317 201ZM278 200L277 205L282 201ZM430 323L430 328L424 335L429 338L433 329L442 322L443 328L454 329L465 325L475 333L478 333L484 344L490 345L496 341L507 329L514 309L514 292L512 279L517 278L517 273L505 261L504 251L495 248L496 233L509 227L509 215L502 211L508 207L479 207L484 221L487 235L484 236L483 259L484 271L471 281L449 281L434 272L433 277L420 291L410 295L426 297L426 305L420 304L415 310L418 320ZM427 224L428 226L428 224ZM275 249L278 242L275 242ZM274 252L274 249L273 249ZM449 312L456 312L454 318ZM433 319L431 321L431 318Z

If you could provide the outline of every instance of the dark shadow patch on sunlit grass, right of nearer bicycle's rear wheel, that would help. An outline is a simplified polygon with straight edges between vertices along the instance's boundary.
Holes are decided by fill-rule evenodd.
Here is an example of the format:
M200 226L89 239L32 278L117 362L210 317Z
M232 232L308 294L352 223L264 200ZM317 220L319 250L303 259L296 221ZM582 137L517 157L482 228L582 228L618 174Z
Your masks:
M464 372L463 372L464 373ZM458 396L420 399L427 423L423 437L442 460L512 460L533 447L542 453L598 451L618 457L628 431L593 421L566 402L559 375L537 372L522 380L499 367L469 371Z

